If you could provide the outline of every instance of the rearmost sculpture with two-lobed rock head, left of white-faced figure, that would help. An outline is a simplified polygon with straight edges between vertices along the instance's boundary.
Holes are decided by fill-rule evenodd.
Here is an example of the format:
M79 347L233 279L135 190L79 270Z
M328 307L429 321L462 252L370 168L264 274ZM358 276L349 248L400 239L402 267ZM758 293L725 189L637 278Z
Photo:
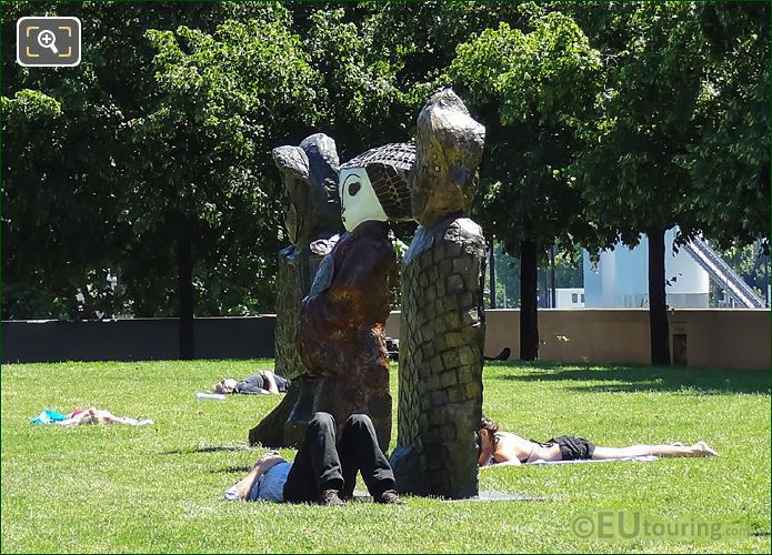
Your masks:
M275 373L292 381L282 402L250 431L250 443L295 445L313 416L319 383L305 371L295 347L300 303L311 290L323 256L342 231L335 142L323 133L300 147L273 149L282 178L284 226L291 244L279 253L277 275Z

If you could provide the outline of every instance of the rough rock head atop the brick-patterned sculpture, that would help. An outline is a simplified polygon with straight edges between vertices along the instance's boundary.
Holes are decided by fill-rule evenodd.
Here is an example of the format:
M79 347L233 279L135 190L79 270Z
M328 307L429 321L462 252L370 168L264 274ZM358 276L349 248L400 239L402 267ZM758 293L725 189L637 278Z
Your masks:
M412 214L421 225L469 212L484 141L485 128L451 89L427 102L418 117L410 175Z

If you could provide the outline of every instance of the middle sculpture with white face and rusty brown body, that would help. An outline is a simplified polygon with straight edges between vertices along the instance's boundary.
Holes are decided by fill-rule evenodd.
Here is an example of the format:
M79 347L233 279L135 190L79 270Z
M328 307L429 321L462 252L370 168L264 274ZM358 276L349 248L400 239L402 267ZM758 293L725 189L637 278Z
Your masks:
M411 218L413 160L412 145L388 144L341 167L347 233L322 261L298 330L300 357L321 379L314 410L332 414L339 426L351 414L370 415L382 450L391 440L384 330L397 286L388 220Z

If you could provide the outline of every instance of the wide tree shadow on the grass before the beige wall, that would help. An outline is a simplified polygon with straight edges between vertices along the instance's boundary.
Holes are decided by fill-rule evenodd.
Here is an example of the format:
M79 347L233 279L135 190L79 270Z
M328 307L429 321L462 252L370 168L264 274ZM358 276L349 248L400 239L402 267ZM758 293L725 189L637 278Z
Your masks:
M517 373L487 380L518 382L582 382L569 389L577 392L632 393L639 391L682 392L694 395L726 393L770 394L770 373L758 370L684 369L666 366L590 366L553 362L522 361L489 364ZM621 383L603 383L621 382Z

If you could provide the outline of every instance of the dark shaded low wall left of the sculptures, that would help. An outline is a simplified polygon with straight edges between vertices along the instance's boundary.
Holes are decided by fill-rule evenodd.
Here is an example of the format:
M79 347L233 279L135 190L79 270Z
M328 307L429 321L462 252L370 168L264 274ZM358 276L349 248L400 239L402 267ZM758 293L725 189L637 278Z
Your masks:
M195 319L194 355L271 357L274 324L273 315ZM174 360L178 333L177 319L4 321L2 362Z

